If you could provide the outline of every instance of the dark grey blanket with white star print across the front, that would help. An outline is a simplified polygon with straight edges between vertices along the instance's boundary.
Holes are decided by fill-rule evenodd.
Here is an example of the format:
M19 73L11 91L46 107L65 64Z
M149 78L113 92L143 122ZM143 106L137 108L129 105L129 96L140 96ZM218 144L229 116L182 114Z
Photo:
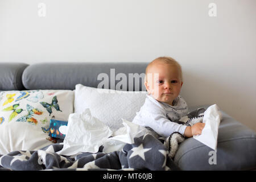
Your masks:
M134 138L121 151L109 154L84 152L73 156L56 154L63 144L55 143L42 150L13 151L0 155L0 170L179 170L168 156L164 141L151 134Z

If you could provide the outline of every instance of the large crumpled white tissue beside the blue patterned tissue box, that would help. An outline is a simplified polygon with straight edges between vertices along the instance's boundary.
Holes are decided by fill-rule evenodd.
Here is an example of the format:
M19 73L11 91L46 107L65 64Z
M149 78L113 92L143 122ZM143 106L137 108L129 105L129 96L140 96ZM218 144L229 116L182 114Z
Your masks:
M70 114L67 134L63 141L63 149L56 152L60 155L75 155L80 152L98 152L102 141L112 135L110 128L90 114L89 109L81 114Z

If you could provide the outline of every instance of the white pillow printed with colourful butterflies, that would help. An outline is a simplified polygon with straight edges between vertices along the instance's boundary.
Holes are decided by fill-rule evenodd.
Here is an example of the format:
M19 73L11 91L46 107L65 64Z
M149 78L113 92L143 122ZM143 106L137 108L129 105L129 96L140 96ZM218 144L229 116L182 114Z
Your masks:
M0 154L38 150L49 144L49 121L68 121L72 90L6 91L0 97Z

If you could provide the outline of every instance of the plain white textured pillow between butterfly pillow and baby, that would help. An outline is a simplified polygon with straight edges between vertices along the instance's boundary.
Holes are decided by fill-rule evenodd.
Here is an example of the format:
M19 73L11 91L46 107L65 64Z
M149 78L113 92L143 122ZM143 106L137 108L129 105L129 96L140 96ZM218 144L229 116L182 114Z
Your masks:
M81 114L86 108L92 115L106 123L112 130L122 125L122 119L133 121L146 99L146 92L98 89L81 84L75 89L75 113Z

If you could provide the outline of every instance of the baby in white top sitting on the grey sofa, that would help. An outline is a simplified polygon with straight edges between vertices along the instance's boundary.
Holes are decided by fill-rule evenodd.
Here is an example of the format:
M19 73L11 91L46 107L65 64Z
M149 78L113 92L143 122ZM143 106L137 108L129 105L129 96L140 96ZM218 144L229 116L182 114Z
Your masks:
M201 134L205 123L185 126L174 122L188 114L187 103L179 96L183 78L181 66L175 59L158 57L148 64L144 85L148 94L134 123L150 127L163 137L174 132L185 137Z

